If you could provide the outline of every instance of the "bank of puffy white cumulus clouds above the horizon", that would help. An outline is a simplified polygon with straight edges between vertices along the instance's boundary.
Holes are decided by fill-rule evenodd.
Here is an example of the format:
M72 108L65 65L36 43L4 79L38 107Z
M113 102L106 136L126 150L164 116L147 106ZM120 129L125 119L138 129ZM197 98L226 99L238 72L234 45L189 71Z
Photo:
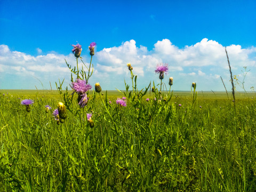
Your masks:
M11 51L7 45L0 45L1 73L17 77L34 75L42 82L49 82L49 79L57 81L58 78L70 78L65 59L68 63L75 63L73 54L63 55L52 51L42 55L42 50L39 48L37 52L39 55L33 56ZM256 72L256 47L244 49L240 45L230 45L227 46L227 52L233 74L241 73L243 66L251 69L251 74ZM95 51L93 63L92 82L102 82L101 85L105 87L103 89L107 90L122 89L124 79L126 82L130 81L127 63L131 63L133 73L138 75L139 88L147 86L150 81L159 81L154 72L159 63L169 65L167 77L173 76L172 87L175 90L189 90L191 82L197 82L198 89L209 90L211 87L211 90L223 90L220 76L225 84L229 84L230 79L225 47L207 38L182 48L173 45L169 39L163 39L154 44L153 50L137 45L131 39L119 46ZM85 64L89 65L86 62ZM81 65L79 68L82 67ZM248 86L256 86L253 84L255 77L251 74L247 75ZM166 81L168 81L167 77L165 75ZM33 83L31 78L28 83ZM66 83L69 83L68 80Z

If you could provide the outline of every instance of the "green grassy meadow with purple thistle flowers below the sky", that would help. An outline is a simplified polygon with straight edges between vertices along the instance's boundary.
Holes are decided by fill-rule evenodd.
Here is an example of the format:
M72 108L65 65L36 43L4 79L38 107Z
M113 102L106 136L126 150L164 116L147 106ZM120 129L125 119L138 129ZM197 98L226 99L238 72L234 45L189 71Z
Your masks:
M67 66L71 90L0 91L0 191L255 191L255 93L138 90L131 65L102 91Z

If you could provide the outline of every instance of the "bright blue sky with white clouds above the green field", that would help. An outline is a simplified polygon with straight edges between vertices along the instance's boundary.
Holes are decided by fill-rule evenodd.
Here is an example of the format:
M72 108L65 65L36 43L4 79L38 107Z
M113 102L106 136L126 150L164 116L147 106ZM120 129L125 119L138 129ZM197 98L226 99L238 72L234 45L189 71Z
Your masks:
M69 84L65 59L75 65L71 44L96 42L92 85L124 89L126 63L139 87L159 82L154 70L168 63L174 90L231 89L225 56L233 74L256 87L256 1L1 1L0 89L50 89L58 79ZM39 80L38 80L39 79ZM41 85L43 83L43 87ZM239 86L237 86L239 90Z

